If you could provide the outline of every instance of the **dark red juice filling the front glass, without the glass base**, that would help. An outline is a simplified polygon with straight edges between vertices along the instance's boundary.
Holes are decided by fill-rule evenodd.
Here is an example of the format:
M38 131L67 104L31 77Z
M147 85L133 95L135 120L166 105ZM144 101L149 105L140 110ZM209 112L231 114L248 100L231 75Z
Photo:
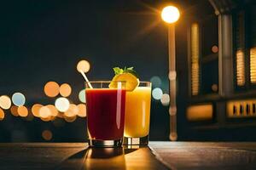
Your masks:
M122 139L125 123L125 90L86 89L85 94L90 139Z

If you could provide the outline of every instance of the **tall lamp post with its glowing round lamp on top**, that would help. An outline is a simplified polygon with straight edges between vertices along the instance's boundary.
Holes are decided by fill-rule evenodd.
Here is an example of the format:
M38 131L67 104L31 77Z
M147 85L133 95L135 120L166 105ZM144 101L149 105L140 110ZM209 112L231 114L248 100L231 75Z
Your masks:
M176 7L167 6L162 9L161 18L168 24L168 54L169 54L169 94L170 94L170 136L177 140L177 105L176 105L176 54L175 54L175 25L180 14Z

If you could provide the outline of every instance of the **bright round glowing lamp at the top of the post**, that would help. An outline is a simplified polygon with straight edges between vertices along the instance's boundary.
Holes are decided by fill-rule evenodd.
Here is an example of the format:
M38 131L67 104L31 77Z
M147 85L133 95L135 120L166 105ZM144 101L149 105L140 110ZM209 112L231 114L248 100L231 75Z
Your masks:
M174 6L167 6L163 8L161 13L162 20L169 24L176 22L179 18L179 15L180 14L178 9Z

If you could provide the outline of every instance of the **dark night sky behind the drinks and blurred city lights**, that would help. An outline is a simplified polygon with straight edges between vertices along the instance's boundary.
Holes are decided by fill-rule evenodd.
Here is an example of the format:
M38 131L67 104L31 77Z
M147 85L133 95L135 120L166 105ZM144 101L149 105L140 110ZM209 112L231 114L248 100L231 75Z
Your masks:
M27 106L38 102L53 104L54 99L44 94L44 84L67 82L73 88L69 99L79 104L78 94L84 88L84 79L76 71L80 59L90 62L90 80L111 79L114 66L134 66L143 81L160 77L160 88L168 93L167 27L155 10L163 3L166 2L2 2L0 94L21 92ZM26 122L6 112L6 119L0 122L1 141L41 141L44 128L53 131L54 141L84 141L86 126L82 118L54 127L51 122ZM168 124L168 108L153 100L151 139L168 139ZM15 139L14 132L18 133Z

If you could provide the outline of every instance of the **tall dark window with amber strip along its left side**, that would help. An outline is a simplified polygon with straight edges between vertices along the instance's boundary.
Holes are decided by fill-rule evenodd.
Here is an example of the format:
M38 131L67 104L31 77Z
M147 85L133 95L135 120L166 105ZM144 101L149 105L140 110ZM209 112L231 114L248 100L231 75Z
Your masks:
M195 21L189 33L190 95L218 94L218 17Z

